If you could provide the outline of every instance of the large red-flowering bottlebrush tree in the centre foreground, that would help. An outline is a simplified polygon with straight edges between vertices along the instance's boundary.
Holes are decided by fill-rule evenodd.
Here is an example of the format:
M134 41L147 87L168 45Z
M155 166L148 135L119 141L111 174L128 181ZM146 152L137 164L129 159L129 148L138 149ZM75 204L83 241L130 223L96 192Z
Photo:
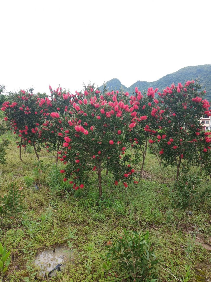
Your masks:
M129 106L128 93L100 91L88 86L79 93L78 103L71 106L71 116L62 120L64 143L61 160L67 164L61 173L73 189L83 188L89 171L98 172L99 195L102 196L101 171L109 168L115 184L133 180L129 155L125 150L130 145L129 136L136 126Z

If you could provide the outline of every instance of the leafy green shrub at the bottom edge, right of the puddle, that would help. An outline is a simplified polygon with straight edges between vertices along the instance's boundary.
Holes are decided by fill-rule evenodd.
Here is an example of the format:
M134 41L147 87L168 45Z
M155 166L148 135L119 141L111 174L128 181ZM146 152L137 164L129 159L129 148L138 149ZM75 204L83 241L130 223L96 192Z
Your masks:
M149 246L149 232L145 234L124 230L123 237L113 242L107 257L118 260L133 281L156 281L154 265L158 263Z

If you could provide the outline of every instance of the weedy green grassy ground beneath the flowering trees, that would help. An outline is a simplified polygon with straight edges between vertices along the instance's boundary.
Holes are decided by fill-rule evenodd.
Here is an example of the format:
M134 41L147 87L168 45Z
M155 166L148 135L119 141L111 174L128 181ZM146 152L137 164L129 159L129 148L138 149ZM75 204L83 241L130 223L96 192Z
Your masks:
M155 157L147 154L143 179L139 184L115 186L112 175L103 171L103 197L98 199L95 172L90 175L86 189L75 193L62 180L56 183L58 170L53 166L52 153L39 153L44 165L39 190L26 188L25 176L39 181L33 174L35 154L30 149L19 160L14 136L8 133L11 144L6 164L0 164L0 197L10 182L23 187L24 215L14 225L0 226L0 241L11 250L12 260L5 281L48 281L39 276L33 264L37 253L46 247L66 245L69 230L75 232L73 247L77 250L75 264L52 281L130 281L127 271L115 261L109 271L102 268L107 242L118 239L123 228L145 232L159 259L156 266L158 281L211 281L211 253L192 236L211 236L211 203L206 202L187 217L184 211L172 208L170 195L175 170L160 167ZM62 164L58 169L63 168ZM138 170L138 167L137 167ZM211 185L211 181L204 182ZM91 244L91 245L90 245ZM91 246L91 251L90 251ZM88 259L88 257L90 259ZM189 279L185 280L190 267Z

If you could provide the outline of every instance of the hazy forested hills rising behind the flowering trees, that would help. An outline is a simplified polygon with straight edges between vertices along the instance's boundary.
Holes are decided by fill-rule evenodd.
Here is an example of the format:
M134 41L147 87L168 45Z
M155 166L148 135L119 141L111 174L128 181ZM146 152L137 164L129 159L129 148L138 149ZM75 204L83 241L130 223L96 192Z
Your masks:
M171 74L167 74L166 76L163 76L157 81L148 82L148 81L138 80L135 83L133 83L133 85L131 85L130 87L126 87L120 82L120 80L118 80L117 78L113 78L112 80L106 82L106 88L110 91L111 89L119 90L122 87L124 91L128 91L130 94L134 92L135 87L138 87L138 89L141 91L147 90L149 87L153 87L153 88L158 87L159 90L162 91L165 87L170 86L172 83L177 85L178 82L181 82L183 84L187 80L196 80L196 78L199 78L199 82L202 85L202 89L206 87L207 93L205 97L210 101L211 100L211 65L185 67ZM100 86L99 88L102 90L103 85Z

